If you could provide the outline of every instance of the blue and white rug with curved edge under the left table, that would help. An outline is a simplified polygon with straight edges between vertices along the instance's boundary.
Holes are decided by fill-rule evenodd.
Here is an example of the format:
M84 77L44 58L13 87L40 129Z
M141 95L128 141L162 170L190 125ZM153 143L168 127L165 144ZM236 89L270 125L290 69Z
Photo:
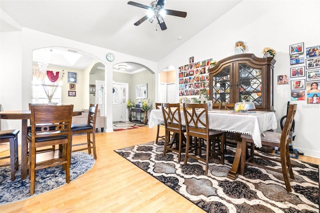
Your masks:
M94 158L81 151L72 152L70 181L88 171L94 164ZM20 164L19 164L20 165ZM0 167L0 205L26 199L30 196L30 181L21 180L20 169L15 171L15 180L11 181L10 166ZM58 188L65 183L62 165L39 169L35 175L35 192L32 196Z

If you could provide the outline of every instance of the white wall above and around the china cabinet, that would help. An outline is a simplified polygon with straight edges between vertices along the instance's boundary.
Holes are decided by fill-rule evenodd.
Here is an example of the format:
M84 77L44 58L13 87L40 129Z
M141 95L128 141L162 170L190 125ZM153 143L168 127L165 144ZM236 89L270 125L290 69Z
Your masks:
M279 121L286 114L290 85L277 85L276 76L289 74L289 45L299 42L304 42L304 47L320 44L320 28L310 18L310 7L320 8L320 1L244 0L158 61L158 67L173 65L177 70L178 66L188 62L190 56L194 56L194 61L211 57L222 59L234 54L234 43L237 40L245 42L246 52L260 57L263 47L274 48L274 109L278 120L276 131L281 131ZM177 79L178 73L176 90ZM178 98L176 93L176 101ZM306 100L291 103L298 104L293 147L307 155L320 157L320 104L307 104Z

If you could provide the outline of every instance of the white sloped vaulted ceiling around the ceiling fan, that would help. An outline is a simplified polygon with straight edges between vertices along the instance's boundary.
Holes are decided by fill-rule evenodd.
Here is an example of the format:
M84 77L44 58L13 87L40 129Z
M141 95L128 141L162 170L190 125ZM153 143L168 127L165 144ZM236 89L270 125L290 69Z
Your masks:
M147 10L127 0L1 0L0 7L22 27L158 61L241 1L167 0L164 8L187 15L165 15L165 30L156 21L133 25Z

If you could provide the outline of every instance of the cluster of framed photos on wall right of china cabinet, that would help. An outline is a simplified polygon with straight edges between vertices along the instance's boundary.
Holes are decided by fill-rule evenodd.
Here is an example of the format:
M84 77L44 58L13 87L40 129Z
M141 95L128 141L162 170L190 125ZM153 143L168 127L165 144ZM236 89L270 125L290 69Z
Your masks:
M305 48L303 42L289 46L290 50L290 85L291 100L306 100L307 103L320 104L320 45ZM282 77L280 77L282 76ZM283 76L278 75L278 84L283 82Z

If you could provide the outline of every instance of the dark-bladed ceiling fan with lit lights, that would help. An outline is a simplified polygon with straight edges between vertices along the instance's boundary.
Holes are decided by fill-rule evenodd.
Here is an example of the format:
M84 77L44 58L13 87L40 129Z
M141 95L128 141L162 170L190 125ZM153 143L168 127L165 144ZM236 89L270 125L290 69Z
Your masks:
M136 21L134 23L134 25L137 26L140 23L142 23L143 21L145 21L146 19L148 19L152 23L153 20L156 18L158 24L160 25L161 30L164 30L164 29L166 29L166 25L163 20L164 14L174 15L174 16L178 16L178 17L185 17L186 16L186 12L171 10L171 9L164 9L163 6L165 4L165 1L166 0L155 0L155 1L152 1L149 6L144 5L144 4L140 4L140 3L136 3L133 1L128 1L128 4L130 4L132 6L138 6L138 7L149 10L148 14L144 15L142 18L140 18L138 21Z

